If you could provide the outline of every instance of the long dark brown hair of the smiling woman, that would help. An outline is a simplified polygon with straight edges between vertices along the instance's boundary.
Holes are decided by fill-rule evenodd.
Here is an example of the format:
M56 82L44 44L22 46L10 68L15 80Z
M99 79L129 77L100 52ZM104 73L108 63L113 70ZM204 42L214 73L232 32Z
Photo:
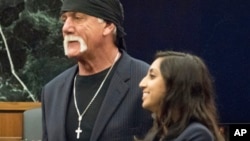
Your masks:
M223 141L218 128L215 92L210 72L203 60L195 55L165 51L160 71L167 93L161 105L160 117L148 134L173 139L180 135L192 121L205 125L216 141ZM146 139L145 140L151 140Z

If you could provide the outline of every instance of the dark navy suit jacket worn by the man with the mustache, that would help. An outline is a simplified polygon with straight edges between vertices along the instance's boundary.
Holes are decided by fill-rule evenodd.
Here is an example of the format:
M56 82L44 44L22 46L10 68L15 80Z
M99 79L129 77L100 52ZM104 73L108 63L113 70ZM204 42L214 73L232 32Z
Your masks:
M152 126L150 113L141 107L138 86L148 67L122 51L90 141L132 141L133 135L143 135ZM43 88L43 141L66 141L67 104L77 70L77 65L69 68Z

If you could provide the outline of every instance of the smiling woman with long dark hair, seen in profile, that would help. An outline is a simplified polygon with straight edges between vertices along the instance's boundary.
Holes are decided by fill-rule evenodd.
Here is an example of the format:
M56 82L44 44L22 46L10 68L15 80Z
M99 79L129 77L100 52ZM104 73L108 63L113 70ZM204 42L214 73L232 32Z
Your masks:
M224 141L212 78L198 56L158 52L139 84L154 126L143 141Z

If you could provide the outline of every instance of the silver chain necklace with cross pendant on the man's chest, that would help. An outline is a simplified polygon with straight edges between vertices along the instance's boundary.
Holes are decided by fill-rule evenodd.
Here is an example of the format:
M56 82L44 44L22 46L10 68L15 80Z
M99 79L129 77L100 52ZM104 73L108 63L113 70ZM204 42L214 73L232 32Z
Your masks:
M80 138L80 134L82 133L82 129L81 129L81 121L82 121L82 117L85 115L85 113L87 112L87 110L89 109L89 107L91 106L91 104L93 103L93 101L95 100L96 96L98 95L99 91L101 90L103 84L105 83L106 79L108 78L112 68L115 65L115 62L117 61L119 57L119 52L117 53L115 60L112 64L112 66L110 67L108 73L106 74L106 76L104 77L104 79L102 80L101 85L99 86L99 88L97 89L96 93L94 94L93 98L90 100L89 104L87 105L87 107L85 108L85 110L82 112L82 114L80 114L79 112L79 108L77 106L77 101L76 101L76 76L74 78L74 87L73 87L73 95L74 95L74 104L75 104L75 108L78 114L78 128L75 130L76 132L76 138L79 139Z

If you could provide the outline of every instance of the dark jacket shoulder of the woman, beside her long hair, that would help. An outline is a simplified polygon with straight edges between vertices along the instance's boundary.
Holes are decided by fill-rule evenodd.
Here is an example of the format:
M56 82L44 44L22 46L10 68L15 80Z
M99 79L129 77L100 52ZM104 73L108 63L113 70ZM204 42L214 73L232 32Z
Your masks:
M214 141L212 132L203 124L193 122L174 141Z

